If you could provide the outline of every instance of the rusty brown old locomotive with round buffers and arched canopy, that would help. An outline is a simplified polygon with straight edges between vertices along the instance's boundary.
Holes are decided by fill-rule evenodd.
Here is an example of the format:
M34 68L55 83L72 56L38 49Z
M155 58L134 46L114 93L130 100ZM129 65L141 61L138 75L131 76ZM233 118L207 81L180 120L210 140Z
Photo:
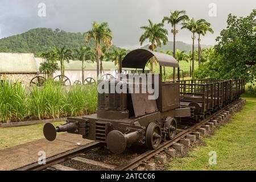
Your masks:
M141 69L144 73L150 59L158 60L159 74L119 75L117 79L99 82L97 113L68 118L67 123L56 129L47 123L44 126L45 137L53 140L56 131L68 131L80 134L84 139L106 143L115 154L123 152L131 144L154 149L162 141L174 138L180 118L191 116L188 107L180 107L179 81L176 81L175 74L179 64L174 57L136 49L122 60L119 72L124 67ZM172 81L163 81L162 67L174 68Z

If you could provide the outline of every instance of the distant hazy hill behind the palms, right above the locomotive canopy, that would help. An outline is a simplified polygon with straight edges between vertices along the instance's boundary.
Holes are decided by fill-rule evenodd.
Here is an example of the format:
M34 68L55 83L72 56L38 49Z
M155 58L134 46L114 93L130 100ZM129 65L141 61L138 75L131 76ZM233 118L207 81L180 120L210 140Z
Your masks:
M143 46L142 48L147 49L148 46L149 45L147 44L146 46ZM180 51L187 51L187 52L192 51L192 44L186 44L184 42L177 41L175 46L176 46L176 49L179 49ZM210 47L210 46L202 44L201 47L204 48L204 47ZM162 45L162 47L157 48L156 50L157 51L160 51L160 50L164 50L164 51L171 50L171 51L173 51L173 49L174 49L174 42L170 41L166 45ZM198 45L195 44L195 50L197 50L197 49L198 49Z

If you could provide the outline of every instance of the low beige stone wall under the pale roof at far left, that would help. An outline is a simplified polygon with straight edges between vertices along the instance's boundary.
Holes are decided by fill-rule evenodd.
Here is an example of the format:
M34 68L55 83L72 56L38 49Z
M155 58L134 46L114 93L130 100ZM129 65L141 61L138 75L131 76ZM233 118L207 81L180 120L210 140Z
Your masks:
M32 78L37 76L33 73L22 73L22 74L16 74L16 73L8 73L8 74L2 74L0 73L0 80L12 80L12 81L22 81L22 84L24 86L30 86L30 81Z

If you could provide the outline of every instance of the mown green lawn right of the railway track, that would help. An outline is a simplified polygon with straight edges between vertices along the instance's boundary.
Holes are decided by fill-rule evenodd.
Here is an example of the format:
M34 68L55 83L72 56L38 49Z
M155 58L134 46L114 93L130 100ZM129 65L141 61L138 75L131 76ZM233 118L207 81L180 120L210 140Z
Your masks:
M186 158L173 159L167 170L256 170L256 97L243 96L246 105L209 138L206 146L193 148ZM217 164L209 164L209 152Z

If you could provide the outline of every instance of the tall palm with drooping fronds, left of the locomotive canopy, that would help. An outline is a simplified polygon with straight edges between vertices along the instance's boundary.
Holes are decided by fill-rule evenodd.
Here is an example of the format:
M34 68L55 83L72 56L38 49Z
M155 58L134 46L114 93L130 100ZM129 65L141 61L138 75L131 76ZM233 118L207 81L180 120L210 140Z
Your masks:
M95 48L97 52L97 76L99 76L100 75L99 62L102 54L100 43L102 40L102 42L105 44L106 47L112 46L112 40L113 40L112 31L109 28L109 24L106 22L103 22L103 23L93 22L92 30L85 32L84 35L85 35L86 42L89 42L91 38L94 39L95 41Z

